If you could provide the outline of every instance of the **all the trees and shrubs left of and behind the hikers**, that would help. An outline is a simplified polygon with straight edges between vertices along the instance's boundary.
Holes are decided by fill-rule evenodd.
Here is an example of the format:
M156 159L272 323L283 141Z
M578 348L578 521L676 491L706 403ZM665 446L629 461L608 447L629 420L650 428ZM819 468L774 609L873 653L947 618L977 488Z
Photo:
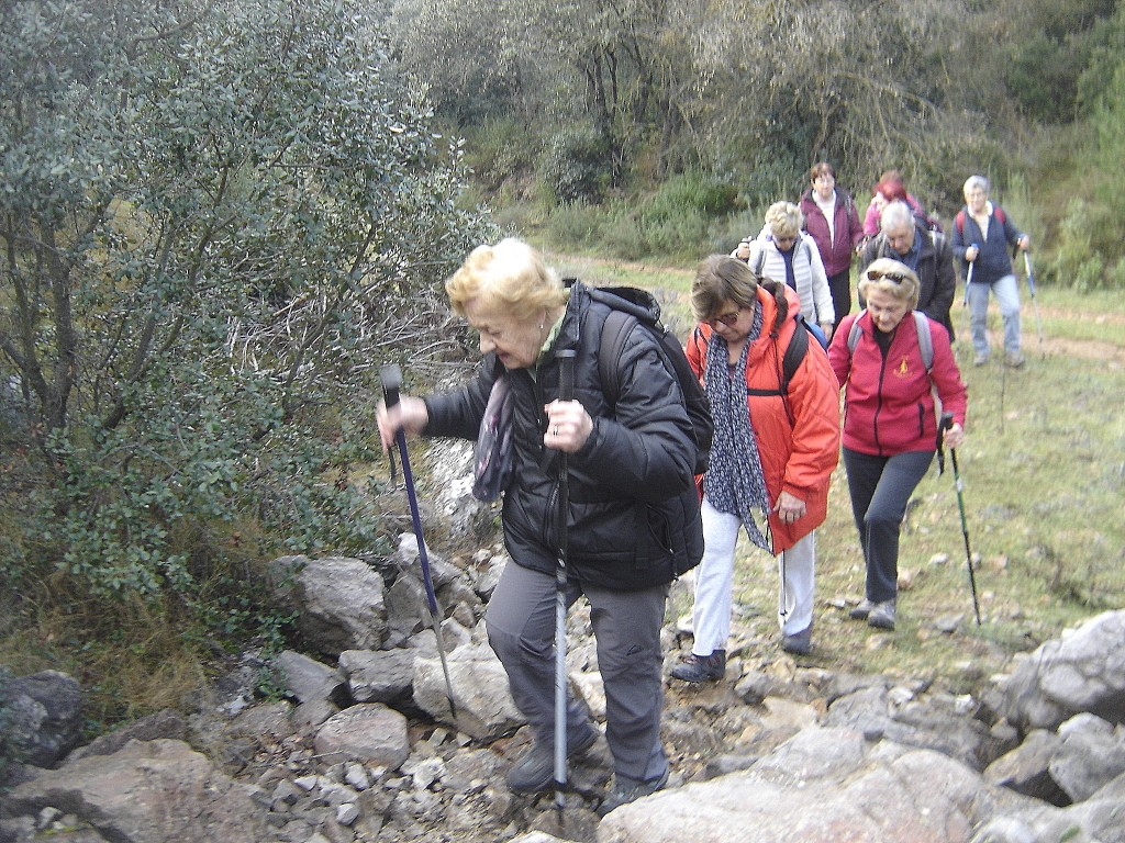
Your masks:
M280 644L261 562L386 549L378 365L465 357L440 282L501 230L696 257L817 160L945 219L983 172L1048 281L1125 287L1123 44L1107 0L3 3L0 665L96 729Z

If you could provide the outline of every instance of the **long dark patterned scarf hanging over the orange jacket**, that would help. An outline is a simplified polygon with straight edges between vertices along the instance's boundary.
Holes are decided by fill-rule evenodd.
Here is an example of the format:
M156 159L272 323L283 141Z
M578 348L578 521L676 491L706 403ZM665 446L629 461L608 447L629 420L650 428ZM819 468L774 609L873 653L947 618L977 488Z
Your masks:
M749 540L768 552L770 540L763 535L758 522L768 524L770 496L746 404L746 361L750 343L762 335L762 306L755 305L750 333L734 368L728 365L726 339L712 333L708 343L703 375L714 419L714 442L711 463L703 475L703 495L720 513L737 515Z

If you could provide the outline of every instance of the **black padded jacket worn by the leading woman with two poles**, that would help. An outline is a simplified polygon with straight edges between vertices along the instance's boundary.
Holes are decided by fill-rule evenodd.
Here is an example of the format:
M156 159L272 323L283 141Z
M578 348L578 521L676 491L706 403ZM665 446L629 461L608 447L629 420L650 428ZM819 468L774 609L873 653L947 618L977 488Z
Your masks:
M606 398L598 347L610 312L576 282L551 348L533 371L507 372L514 462L504 493L504 537L516 564L555 573L560 460L559 452L543 445L543 407L558 397L556 353L573 348L575 398L594 419L594 429L568 459L569 573L604 588L640 590L669 582L702 558L696 448L675 374L640 325L629 333L614 369L620 378L615 404ZM424 435L475 439L492 386L503 372L503 364L488 354L468 384L428 396Z

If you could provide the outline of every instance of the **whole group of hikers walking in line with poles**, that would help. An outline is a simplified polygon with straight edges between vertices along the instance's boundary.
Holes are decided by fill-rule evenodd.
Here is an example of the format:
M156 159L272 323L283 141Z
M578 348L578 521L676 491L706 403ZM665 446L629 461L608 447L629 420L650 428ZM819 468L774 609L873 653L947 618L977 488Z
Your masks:
M686 347L647 293L564 281L515 238L477 247L446 282L479 334L476 375L379 407L385 447L402 433L475 441L474 493L503 498L511 561L485 625L533 735L506 773L514 792L560 795L567 760L601 735L566 679L565 615L579 597L591 608L613 760L603 816L668 780L660 631L673 580L694 569L693 646L673 679L726 673L744 529L776 559L781 647L811 652L816 531L840 459L866 562L850 616L894 628L907 504L939 435L951 448L964 436L954 260L976 288L968 297L974 362L988 361L991 291L1005 360L1019 365L1007 245L1028 241L988 201L980 176L965 183L951 238L893 172L875 185L864 226L829 164L813 166L810 182L799 203L771 206L734 254L700 264Z

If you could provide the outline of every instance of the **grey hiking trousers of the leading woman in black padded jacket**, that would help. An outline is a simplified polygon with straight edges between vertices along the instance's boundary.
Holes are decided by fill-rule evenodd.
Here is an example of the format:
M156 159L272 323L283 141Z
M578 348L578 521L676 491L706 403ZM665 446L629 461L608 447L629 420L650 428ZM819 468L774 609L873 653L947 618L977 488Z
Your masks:
M632 786L664 774L660 744L664 707L660 627L668 584L612 591L570 580L569 608L580 595L591 607L597 664L605 687L605 740L618 782ZM488 643L528 718L536 741L555 745L555 577L508 562L485 616ZM567 694L567 741L587 734L586 713Z

